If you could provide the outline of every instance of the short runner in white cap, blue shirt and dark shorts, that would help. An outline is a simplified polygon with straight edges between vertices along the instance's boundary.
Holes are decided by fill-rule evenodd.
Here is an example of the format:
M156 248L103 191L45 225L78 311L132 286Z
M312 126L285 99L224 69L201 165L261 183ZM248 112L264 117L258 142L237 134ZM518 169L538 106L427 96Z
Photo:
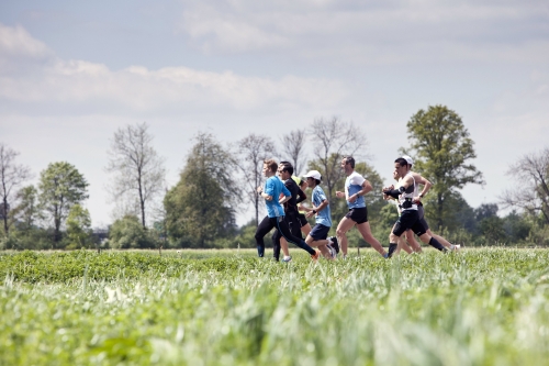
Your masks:
M335 259L336 253L339 251L337 249L337 243L327 239L329 228L332 228L332 213L328 199L320 186L322 176L317 170L311 170L304 178L306 178L309 188L313 189L311 199L313 204L312 208L302 207L302 209L307 211L307 218L314 215L316 220L316 224L305 239L305 243L317 246L326 259Z

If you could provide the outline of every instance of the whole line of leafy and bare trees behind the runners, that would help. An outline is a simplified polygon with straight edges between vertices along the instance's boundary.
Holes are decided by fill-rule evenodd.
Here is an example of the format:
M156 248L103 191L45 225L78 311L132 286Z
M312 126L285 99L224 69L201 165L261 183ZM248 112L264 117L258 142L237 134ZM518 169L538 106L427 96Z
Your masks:
M484 185L484 180L472 163L474 142L459 114L445 106L432 106L412 115L406 131L408 146L399 153L413 156L413 170L434 184L424 199L434 231L466 245L549 244L549 148L519 157L509 166L516 189L502 192L497 202L472 208L460 190L470 184ZM85 208L89 184L75 166L52 163L41 171L36 186L25 186L33 175L16 164L18 155L0 143L2 248L254 247L254 232L264 214L256 188L264 182L262 160L270 157L292 163L296 173L321 171L337 222L347 211L345 201L335 197L346 178L339 162L352 155L356 170L373 187L365 197L373 235L384 243L397 218L395 207L378 193L383 179L368 163L363 130L336 117L315 119L307 127L281 134L278 141L250 133L223 144L211 133L198 133L172 187L165 181L165 159L154 147L148 125L119 129L105 165L111 178L109 193L115 203L108 241L92 233ZM500 217L500 208L513 211ZM238 213L249 218L240 228L236 225ZM352 231L349 240L367 245Z

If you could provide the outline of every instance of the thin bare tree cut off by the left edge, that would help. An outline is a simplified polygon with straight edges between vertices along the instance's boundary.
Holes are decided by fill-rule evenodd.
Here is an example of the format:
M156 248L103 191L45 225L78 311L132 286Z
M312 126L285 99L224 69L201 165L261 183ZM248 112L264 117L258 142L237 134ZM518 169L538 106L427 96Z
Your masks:
M5 235L10 232L10 206L13 204L11 195L23 181L32 177L27 167L15 164L18 155L18 152L0 143L0 199L2 200L0 215L2 217Z

